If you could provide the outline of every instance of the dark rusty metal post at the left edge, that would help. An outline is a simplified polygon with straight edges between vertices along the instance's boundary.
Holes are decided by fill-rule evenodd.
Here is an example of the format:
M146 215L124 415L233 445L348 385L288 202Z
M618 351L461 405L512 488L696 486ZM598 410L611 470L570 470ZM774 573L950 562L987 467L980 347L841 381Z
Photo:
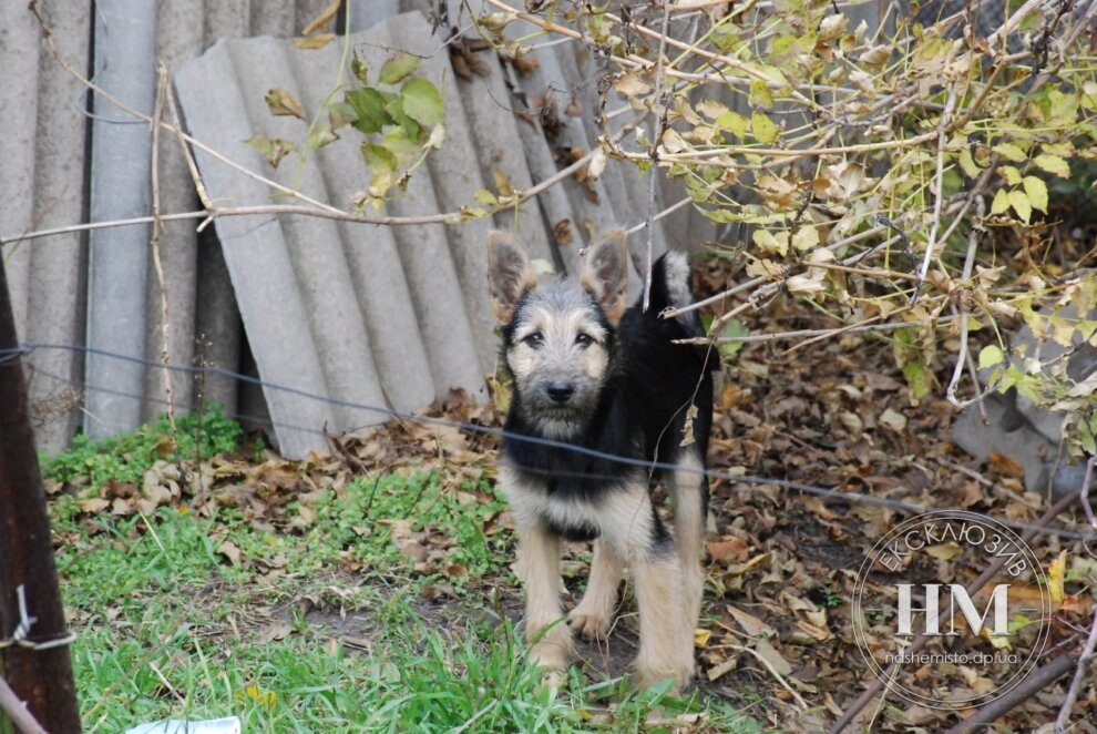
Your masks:
M22 359L14 351L18 346L0 257L0 643L16 638L23 624L27 643L49 644L63 641L68 633L27 405L27 380ZM25 614L20 610L20 588ZM29 621L32 623L27 629ZM66 644L41 649L4 645L0 648L0 675L45 731L80 731Z

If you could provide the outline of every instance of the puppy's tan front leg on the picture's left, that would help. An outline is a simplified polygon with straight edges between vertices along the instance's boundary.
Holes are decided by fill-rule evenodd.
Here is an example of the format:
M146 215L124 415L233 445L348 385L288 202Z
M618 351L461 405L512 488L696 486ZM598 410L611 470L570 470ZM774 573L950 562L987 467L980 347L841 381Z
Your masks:
M519 544L525 567L525 636L533 644L530 660L563 670L572 655L572 631L560 605L560 538L539 524L520 526Z

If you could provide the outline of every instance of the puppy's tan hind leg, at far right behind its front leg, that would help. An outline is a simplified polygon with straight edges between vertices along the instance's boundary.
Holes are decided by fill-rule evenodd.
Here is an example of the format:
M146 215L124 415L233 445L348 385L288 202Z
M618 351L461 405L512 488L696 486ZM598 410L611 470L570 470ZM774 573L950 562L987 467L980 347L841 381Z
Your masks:
M700 618L705 575L701 571L701 543L705 538L705 514L708 503L708 478L701 473L705 463L696 447L683 450L670 478L670 496L674 502L675 544L681 575L683 624L690 636Z

